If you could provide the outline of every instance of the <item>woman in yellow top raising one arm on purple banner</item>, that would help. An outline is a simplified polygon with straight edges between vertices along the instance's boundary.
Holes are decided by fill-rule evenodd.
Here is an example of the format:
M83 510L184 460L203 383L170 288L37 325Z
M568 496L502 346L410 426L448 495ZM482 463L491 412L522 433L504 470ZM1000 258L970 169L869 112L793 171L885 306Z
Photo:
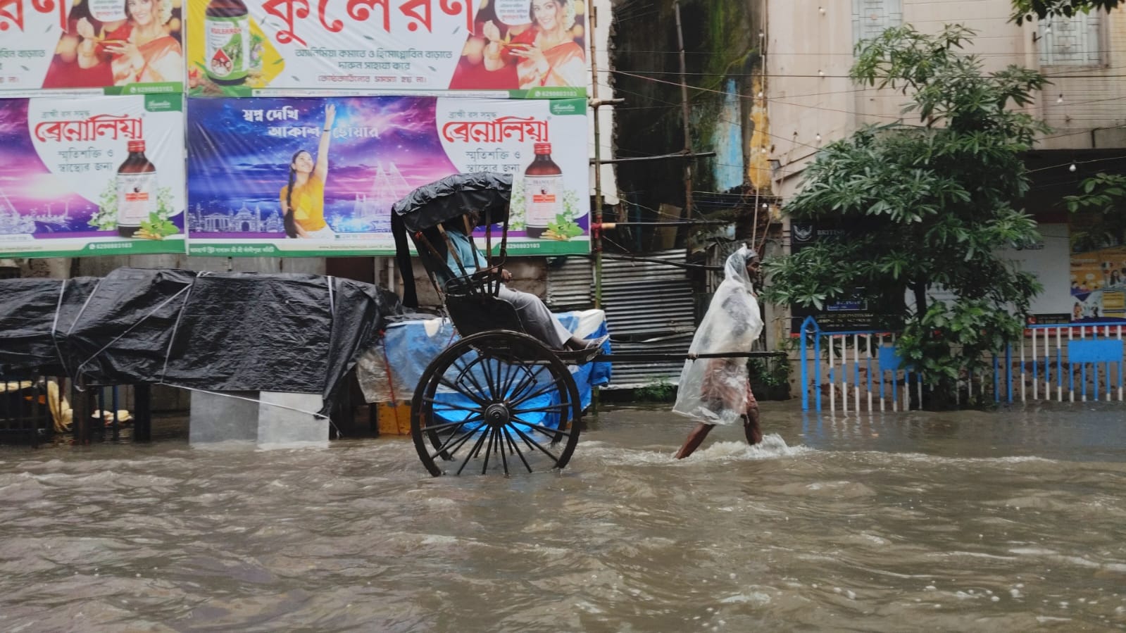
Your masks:
M336 233L324 221L324 182L329 178L329 142L337 107L324 107L324 126L316 160L305 150L297 150L289 161L289 182L282 187L282 220L289 238L331 240Z

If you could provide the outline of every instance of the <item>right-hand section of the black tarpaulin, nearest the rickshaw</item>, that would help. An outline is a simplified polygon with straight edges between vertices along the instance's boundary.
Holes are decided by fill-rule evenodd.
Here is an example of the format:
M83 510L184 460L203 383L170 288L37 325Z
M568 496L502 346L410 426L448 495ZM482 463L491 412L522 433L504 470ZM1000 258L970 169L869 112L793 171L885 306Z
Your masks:
M401 313L394 294L316 275L198 277L176 326L164 382L215 391L336 391L358 351Z

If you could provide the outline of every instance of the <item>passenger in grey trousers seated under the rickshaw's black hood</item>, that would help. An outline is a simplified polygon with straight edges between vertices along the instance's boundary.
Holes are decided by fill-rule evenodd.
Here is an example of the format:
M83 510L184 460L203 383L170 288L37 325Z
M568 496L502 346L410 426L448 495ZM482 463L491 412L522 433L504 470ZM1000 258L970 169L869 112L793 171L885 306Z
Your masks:
M477 223L477 214L474 212L466 214L466 216L468 217L468 224L471 226L475 226ZM463 216L457 216L443 223L443 228L446 230L446 237L449 238L449 243L453 244L453 250L446 253L446 266L449 267L449 270L453 271L455 276L463 276L462 268L465 269L464 275L472 275L479 268L485 268L489 266L484 255L482 255L473 243L473 237L466 234L465 225L466 220ZM461 260L461 266L458 266L457 259L454 258L454 252L457 252L457 259ZM501 270L500 274L501 279L504 282L512 278L512 274L508 270ZM443 276L439 276L439 280L443 286L445 286L449 279L441 277ZM512 304L512 307L516 309L517 315L520 318L520 323L529 335L544 341L553 349L587 349L588 347L601 346L606 340L606 337L584 340L571 335L571 332L563 327L563 323L560 323L560 320L552 314L551 310L544 305L544 302L531 293L513 291L504 284L501 284L497 296Z

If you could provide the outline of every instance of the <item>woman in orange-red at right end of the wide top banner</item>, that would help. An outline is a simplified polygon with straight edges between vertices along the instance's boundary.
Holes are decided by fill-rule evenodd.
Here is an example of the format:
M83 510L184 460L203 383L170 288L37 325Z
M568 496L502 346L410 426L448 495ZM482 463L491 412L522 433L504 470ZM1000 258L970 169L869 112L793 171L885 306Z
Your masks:
M533 27L502 42L489 20L482 29L486 70L501 70L515 59L521 90L538 87L579 87L587 83L586 53L574 42L574 5L570 0L531 0Z

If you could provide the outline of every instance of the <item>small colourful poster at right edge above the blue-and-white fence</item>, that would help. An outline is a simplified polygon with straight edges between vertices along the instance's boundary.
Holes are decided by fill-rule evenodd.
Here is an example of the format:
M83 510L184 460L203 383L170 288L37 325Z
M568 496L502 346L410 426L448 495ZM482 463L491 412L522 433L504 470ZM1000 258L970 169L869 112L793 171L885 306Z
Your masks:
M1126 322L1126 221L1071 219L1071 321Z

